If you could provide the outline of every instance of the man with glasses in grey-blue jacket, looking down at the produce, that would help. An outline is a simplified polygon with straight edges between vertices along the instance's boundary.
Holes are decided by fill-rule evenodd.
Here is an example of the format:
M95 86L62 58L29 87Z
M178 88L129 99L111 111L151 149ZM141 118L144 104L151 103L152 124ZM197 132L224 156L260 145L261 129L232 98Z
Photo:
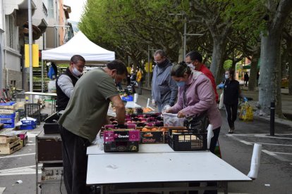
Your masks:
M174 105L178 94L178 86L171 79L170 72L172 63L166 58L162 50L154 53L154 66L152 76L152 105L157 107L158 112L162 112L164 106Z

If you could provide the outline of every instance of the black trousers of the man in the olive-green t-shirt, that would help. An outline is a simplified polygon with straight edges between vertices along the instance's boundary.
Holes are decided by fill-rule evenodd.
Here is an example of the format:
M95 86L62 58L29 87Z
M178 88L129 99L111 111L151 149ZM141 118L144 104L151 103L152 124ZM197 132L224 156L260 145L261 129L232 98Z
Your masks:
M63 177L67 193L90 193L90 187L86 186L86 150L90 141L76 136L62 126L60 126L60 133L63 143Z

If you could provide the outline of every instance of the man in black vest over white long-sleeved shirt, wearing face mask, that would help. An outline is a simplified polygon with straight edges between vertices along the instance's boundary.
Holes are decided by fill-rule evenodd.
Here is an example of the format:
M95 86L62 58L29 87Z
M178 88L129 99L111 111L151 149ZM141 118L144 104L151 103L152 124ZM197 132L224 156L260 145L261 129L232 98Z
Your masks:
M74 86L82 75L84 66L85 58L75 55L71 57L70 66L56 79L56 111L65 110Z

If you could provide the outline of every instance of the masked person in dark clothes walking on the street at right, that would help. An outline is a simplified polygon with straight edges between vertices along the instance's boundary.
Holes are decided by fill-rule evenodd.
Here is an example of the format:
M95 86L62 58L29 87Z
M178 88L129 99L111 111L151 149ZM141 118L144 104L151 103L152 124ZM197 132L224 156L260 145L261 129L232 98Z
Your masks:
M227 121L229 124L229 134L234 132L234 122L237 117L238 110L238 98L241 97L244 101L248 101L247 98L243 97L241 94L241 89L239 87L239 82L234 79L234 70L227 70L225 72L225 83L224 83L224 105L227 114Z

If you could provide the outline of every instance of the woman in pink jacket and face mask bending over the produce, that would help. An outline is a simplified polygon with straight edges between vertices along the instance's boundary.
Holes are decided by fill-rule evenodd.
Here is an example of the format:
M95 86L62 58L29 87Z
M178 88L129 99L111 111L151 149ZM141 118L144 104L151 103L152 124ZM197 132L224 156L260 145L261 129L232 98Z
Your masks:
M178 85L178 101L166 112L178 113L180 118L189 118L197 117L207 111L207 117L209 123L213 125L214 133L209 150L214 153L222 120L215 102L211 81L202 72L190 70L185 63L172 67L171 78Z

